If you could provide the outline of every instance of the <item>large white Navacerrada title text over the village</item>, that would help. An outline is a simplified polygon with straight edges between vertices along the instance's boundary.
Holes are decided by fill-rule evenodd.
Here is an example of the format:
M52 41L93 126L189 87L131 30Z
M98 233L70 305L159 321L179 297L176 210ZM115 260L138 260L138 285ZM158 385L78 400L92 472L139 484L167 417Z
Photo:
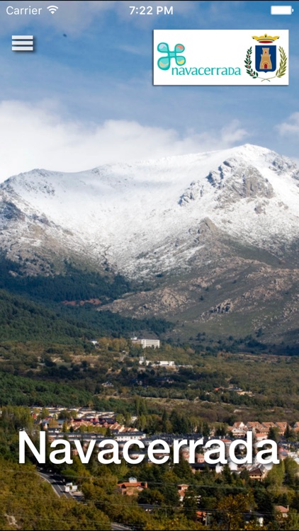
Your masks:
M26 460L26 445L33 453L35 459L39 464L46 462L46 433L40 432L39 448L35 447L33 441L30 439L26 431L21 431L19 434L19 462L25 463ZM157 439L150 442L150 445L145 449L145 444L142 440L131 439L125 442L123 446L123 459L129 464L139 464L145 459L145 453L137 457L130 456L130 450L137 445L140 450L146 450L147 457L150 462L154 464L164 464L169 460L171 448L169 444L163 439ZM189 448L189 463L195 462L195 453L198 447L202 447L201 451L205 450L204 459L208 464L227 464L227 457L225 451L225 443L222 440L211 439L203 444L203 438L198 440L174 440L172 447L172 461L174 464L179 463L180 449L187 445ZM94 452L95 446L98 449L98 462L101 464L120 464L118 442L114 439L104 439L100 442L91 440L87 447L82 445L81 440L74 440L74 447L77 450L77 455L83 464L89 463L91 455ZM50 452L50 462L53 464L72 464L72 447L71 443L65 439L57 439L50 444L50 448L57 448ZM236 456L237 447L242 448L242 456ZM278 447L276 442L270 439L261 440L253 444L252 432L247 432L246 440L237 439L231 442L229 447L229 457L235 464L252 464L254 457L254 447L256 447L256 461L259 464L278 464ZM260 450L261 449L261 450ZM85 451L84 451L85 450ZM243 453L244 452L244 453ZM57 457L59 456L59 457ZM157 456L157 457L156 457Z

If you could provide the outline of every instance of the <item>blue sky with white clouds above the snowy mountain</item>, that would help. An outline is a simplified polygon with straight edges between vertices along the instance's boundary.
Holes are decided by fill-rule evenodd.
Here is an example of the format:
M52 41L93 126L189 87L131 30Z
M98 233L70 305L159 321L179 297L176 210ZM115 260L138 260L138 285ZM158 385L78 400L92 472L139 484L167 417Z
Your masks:
M6 6L43 7L8 16ZM0 181L45 168L80 171L115 161L250 142L298 159L299 1L45 1L0 4ZM130 16L130 5L174 6ZM152 86L152 30L290 30L290 85ZM11 35L34 35L33 53ZM237 46L237 42L236 42Z

